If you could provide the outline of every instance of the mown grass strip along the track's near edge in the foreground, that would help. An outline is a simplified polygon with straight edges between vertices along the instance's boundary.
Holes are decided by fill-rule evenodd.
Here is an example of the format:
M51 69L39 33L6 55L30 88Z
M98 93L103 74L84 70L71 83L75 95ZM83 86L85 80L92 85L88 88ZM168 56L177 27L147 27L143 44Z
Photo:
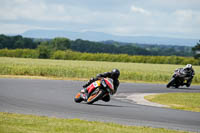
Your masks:
M0 112L0 133L186 133L163 128Z

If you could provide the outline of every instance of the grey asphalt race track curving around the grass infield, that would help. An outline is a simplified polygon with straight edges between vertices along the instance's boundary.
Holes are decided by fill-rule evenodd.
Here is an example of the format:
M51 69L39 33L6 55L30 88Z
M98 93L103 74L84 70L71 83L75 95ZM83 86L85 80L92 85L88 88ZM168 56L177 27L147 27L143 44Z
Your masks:
M200 132L198 112L138 105L123 96L113 96L107 103L75 103L74 96L83 84L83 81L1 78L0 112ZM117 94L165 92L200 92L200 86L167 89L161 84L121 83Z

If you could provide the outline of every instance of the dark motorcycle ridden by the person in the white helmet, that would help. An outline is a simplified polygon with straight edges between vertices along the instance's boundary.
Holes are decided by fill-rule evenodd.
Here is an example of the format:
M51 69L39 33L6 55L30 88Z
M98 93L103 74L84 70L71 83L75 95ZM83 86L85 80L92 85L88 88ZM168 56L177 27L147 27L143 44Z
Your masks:
M174 74L169 81L169 83L166 85L167 88L169 87L175 87L178 88L180 86L186 85L186 81L189 79L189 77L186 76L186 73L183 69L177 69L174 71Z

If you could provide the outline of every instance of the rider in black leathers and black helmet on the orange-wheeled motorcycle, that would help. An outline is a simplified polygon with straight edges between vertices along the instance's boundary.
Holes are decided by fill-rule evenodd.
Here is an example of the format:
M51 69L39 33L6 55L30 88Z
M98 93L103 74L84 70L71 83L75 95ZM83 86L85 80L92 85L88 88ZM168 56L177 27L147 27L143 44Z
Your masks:
M120 76L120 71L118 69L113 69L111 72L105 72L105 73L101 73L101 74L97 74L97 76L95 78L91 78L85 85L83 85L84 88L84 93L85 93L85 99L88 98L88 90L87 87L93 83L94 81L97 81L98 79L101 78L111 78L113 79L113 85L114 85L114 92L112 92L112 95L115 94L117 92L117 88L119 86L119 78ZM107 94L102 98L103 101L108 102L110 101L110 95Z

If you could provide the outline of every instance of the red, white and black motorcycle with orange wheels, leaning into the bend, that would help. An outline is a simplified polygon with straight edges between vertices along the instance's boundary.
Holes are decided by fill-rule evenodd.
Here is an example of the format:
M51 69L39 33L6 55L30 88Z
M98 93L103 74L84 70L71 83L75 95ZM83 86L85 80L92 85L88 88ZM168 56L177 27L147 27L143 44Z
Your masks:
M84 89L78 92L74 98L76 103L85 101L87 104L101 100L106 95L114 92L113 80L111 78L102 78L91 83L88 87L88 95L86 96ZM86 98L87 97L87 98Z

